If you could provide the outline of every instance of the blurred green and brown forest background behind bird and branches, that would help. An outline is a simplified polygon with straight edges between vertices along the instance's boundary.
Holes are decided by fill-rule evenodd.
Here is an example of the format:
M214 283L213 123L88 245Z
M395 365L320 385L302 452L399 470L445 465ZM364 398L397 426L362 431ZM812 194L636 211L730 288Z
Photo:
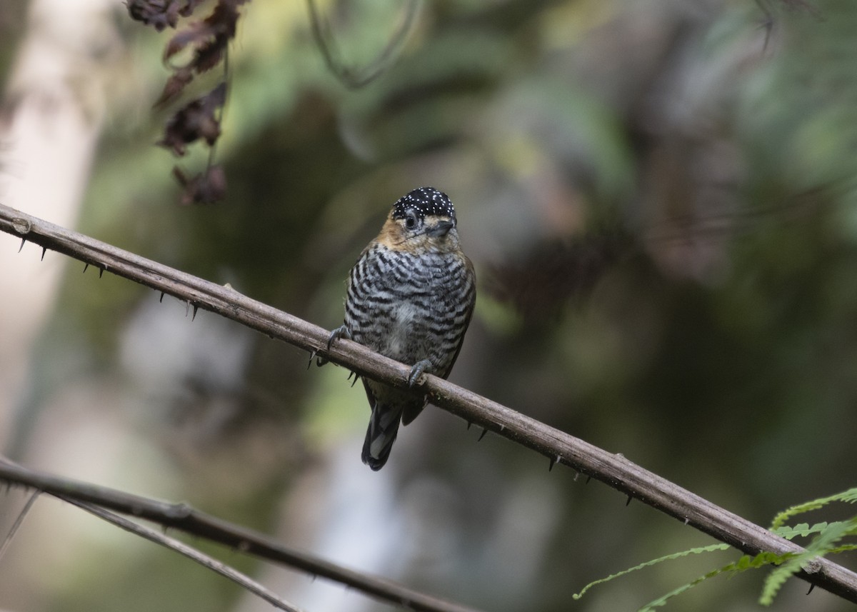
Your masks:
M181 206L176 160L153 146L171 32L117 0L3 0L0 201L331 329L393 201L432 185L479 279L452 381L762 525L853 487L857 6L426 0L379 63L409 7L318 3L345 67L381 69L354 89L306 3L246 4L217 149L228 194ZM369 471L345 369L19 246L0 235L0 451L28 467L188 501L485 610L638 609L739 556L572 601L712 541L434 408ZM26 499L3 490L0 533ZM308 612L393 609L195 544ZM763 579L672 607L760 609ZM45 498L0 560L0 609L270 607ZM851 606L793 580L774 609Z

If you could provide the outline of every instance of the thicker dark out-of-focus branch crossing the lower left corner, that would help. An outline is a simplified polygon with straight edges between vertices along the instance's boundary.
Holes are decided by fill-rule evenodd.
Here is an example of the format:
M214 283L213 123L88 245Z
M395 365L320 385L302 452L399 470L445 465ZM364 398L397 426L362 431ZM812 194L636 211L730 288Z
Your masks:
M274 561L313 576L321 576L383 602L393 603L417 612L475 612L473 609L457 603L446 602L436 597L424 595L419 591L412 591L390 580L376 578L324 561L314 555L287 548L257 531L201 513L184 503L153 500L117 489L99 487L69 478L27 470L27 468L15 465L3 458L0 458L0 481L44 491L59 499L74 503L87 512L95 513L114 524L117 524L116 521L99 514L98 508L108 508L117 513L146 519L163 525L165 528L176 529L195 537L225 544L232 549L255 555L260 559ZM123 529L133 528L133 525L126 524L119 526ZM147 539L154 539L151 533L140 535L147 537ZM171 546L171 548L173 547ZM179 552L187 555L184 550L179 550ZM199 560L195 559L195 561Z

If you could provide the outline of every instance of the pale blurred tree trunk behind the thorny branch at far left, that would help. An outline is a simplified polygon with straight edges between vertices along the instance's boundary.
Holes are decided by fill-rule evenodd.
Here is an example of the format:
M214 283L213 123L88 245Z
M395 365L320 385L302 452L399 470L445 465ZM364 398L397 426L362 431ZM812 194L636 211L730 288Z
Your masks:
M105 109L105 59L119 38L115 0L32 0L0 108L0 201L74 225ZM64 258L0 239L0 451L9 447L33 341Z

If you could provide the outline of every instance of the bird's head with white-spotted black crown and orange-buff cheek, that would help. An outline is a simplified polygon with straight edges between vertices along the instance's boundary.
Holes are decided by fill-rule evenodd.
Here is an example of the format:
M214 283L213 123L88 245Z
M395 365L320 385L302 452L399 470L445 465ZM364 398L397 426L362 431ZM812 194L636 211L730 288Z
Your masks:
M389 249L412 253L446 253L458 249L455 208L449 196L421 187L399 198L378 241Z

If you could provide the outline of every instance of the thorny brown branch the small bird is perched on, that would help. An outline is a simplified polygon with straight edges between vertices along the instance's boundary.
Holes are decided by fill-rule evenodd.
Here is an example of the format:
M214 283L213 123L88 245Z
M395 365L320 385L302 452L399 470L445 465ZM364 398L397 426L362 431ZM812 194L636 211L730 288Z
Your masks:
M0 205L0 231L186 300L194 309L211 310L271 338L318 353L359 375L394 387L407 387L410 373L407 366L349 340L339 340L327 351L327 330L243 296L231 288L179 272L3 205ZM644 470L621 454L608 453L433 375L426 375L419 387L430 394L434 405L469 423L476 423L542 453L551 465L554 462L568 465L596 478L747 555L757 555L762 551L784 555L803 550L764 527ZM798 575L812 585L857 603L857 573L833 561L819 559L812 565L812 573L803 571Z

